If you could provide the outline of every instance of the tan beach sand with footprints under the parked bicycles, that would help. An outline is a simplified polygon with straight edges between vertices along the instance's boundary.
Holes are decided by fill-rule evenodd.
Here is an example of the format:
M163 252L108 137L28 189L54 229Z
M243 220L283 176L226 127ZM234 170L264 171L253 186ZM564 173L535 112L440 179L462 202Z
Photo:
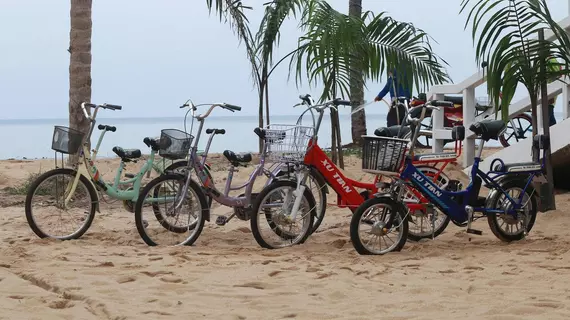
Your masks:
M220 185L227 163L212 162ZM116 163L102 161L105 176ZM0 161L0 189L21 185L40 166L52 168L53 160ZM449 170L461 176L459 169ZM364 176L354 158L345 172ZM0 198L0 319L570 317L568 194L557 195L558 210L540 213L517 243L496 239L481 220L482 236L450 224L435 240L372 257L355 252L350 211L334 206L301 246L261 249L249 222L234 220L207 223L193 247L150 248L120 203L103 204L81 239L60 242L32 233L23 196L4 190ZM213 218L229 211L216 206Z

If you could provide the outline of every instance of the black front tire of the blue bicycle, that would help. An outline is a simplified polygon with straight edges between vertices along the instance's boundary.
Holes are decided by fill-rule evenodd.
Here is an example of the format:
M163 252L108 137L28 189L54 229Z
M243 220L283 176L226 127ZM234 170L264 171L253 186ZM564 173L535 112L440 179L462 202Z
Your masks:
M354 249L356 250L356 252L358 252L361 255L381 255L381 254L385 254L388 252L384 252L384 253L376 253L373 252L371 250L369 250L368 248L366 248L366 246L362 243L362 239L360 238L360 232L359 232L359 226L360 226L360 220L362 218L362 216L364 215L365 212L367 212L367 210L372 207L375 206L377 204L387 204L391 207L391 213L390 213L390 218L389 221L395 222L399 218L400 222L402 225L402 236L400 237L400 239L398 240L398 242L396 243L396 246L388 251L401 251L402 248L404 247L404 245L406 244L406 240L408 239L408 219L406 219L405 217L405 213L406 210L403 204L396 202L395 200L391 199L391 198L387 198L387 197L374 197L371 199L366 200L365 202L363 202L358 209L356 209L356 211L354 212L354 214L352 215L352 219L350 220L350 240L352 242L352 246L354 247Z

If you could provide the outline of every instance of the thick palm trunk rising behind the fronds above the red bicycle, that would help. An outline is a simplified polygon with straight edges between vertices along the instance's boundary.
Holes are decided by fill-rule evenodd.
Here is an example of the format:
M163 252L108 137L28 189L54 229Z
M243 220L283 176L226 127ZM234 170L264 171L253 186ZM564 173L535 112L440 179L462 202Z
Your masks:
M348 14L360 18L362 16L362 0L348 1ZM358 52L354 52L358 55ZM359 64L350 66L350 101L352 110L364 103L364 76ZM361 136L366 134L366 114L364 109L351 117L352 143L360 145Z

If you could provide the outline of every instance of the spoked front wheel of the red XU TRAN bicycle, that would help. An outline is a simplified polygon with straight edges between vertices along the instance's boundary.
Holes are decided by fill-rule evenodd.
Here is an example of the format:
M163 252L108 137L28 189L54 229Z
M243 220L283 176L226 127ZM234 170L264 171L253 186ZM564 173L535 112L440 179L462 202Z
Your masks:
M295 203L297 183L277 180L265 187L255 199L251 215L251 231L255 241L267 249L289 247L305 242L313 228L315 198L306 188L293 219L291 210ZM263 231L269 227L267 231Z

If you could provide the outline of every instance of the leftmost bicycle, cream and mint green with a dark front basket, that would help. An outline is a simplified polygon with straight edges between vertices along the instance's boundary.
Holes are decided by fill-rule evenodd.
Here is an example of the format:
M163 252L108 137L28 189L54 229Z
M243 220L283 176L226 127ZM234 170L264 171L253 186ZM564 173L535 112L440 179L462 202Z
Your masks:
M96 212L101 212L99 208L99 194L97 191L103 191L109 197L123 201L123 206L131 211L132 202L136 201L139 195L139 189L142 179L146 174L147 177L154 170L159 174L163 171L155 165L155 154L158 151L155 139L146 137L143 142L151 148L148 160L142 166L137 174L126 174L127 180L121 180L123 170L127 163L136 162L142 157L142 153L138 149L123 149L119 146L113 148L113 152L121 158L121 162L117 169L115 179L112 183L106 183L97 167L94 165L99 147L107 132L115 132L117 129L110 125L99 125L97 128L101 130L101 135L97 141L95 148L89 151L89 143L91 135L95 129L96 117L99 108L107 110L121 110L122 107L112 104L95 105L91 103L82 103L81 108L83 114L89 120L89 130L87 135L80 131L64 126L55 126L52 149L56 152L56 168L40 175L31 184L26 195L25 212L26 219L32 231L40 238L56 238L60 240L71 240L80 238L91 226ZM93 109L93 115L90 115L86 108ZM71 164L71 168L57 167L57 152L68 155L75 155L79 152L77 161ZM63 160L62 160L63 161ZM180 167L180 163L174 162L165 170L174 170ZM70 182L69 184L66 181ZM46 183L45 186L43 184ZM130 186L124 189L125 186ZM79 190L78 190L79 187ZM50 192L55 191L54 196L49 196ZM63 199L58 200L58 196ZM37 197L37 198L35 198ZM70 206L76 203L84 202L86 210L76 210L75 214L70 213ZM54 205L56 209L67 212L72 220L75 218L80 222L77 229L72 229L71 233L51 234L45 228L39 226L38 215L34 214L38 211L37 204ZM53 211L48 209L48 211ZM59 213L61 216L61 213ZM75 218L74 218L75 217Z

